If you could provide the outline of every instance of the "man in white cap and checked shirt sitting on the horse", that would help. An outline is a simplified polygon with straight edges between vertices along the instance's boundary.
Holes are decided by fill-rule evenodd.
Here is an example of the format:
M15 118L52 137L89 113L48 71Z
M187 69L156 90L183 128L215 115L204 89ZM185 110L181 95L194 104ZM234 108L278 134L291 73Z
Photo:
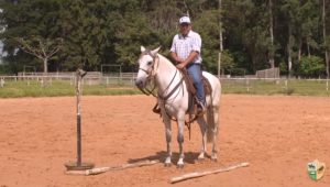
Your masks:
M170 47L170 57L177 63L178 69L186 68L188 75L193 78L197 90L198 112L205 111L206 99L201 80L201 38L200 35L191 30L189 16L179 19L179 33L173 38Z

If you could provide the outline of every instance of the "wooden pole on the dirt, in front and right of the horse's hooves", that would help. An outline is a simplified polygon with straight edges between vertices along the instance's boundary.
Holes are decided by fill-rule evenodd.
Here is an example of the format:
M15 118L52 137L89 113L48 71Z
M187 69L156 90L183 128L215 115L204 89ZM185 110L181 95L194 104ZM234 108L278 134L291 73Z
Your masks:
M183 180L186 180L186 179L202 177L202 176L210 175L210 174L218 174L218 173L222 173L222 172L229 172L229 170L233 170L233 169L239 168L239 167L246 167L249 165L250 165L249 163L240 163L240 164L237 164L237 165L219 168L219 169L216 169L216 170L188 173L188 174L185 174L185 175L182 175L182 176L178 176L178 177L170 178L169 183L174 184L174 183L183 182Z

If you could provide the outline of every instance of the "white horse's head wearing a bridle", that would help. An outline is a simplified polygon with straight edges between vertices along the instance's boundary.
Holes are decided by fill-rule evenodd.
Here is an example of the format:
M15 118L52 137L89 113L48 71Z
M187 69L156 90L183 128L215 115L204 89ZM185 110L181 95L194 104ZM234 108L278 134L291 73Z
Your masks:
M135 85L138 88L145 88L147 81L155 76L155 64L157 63L157 53L161 47L155 50L146 50L141 46L141 55L138 59L139 72L135 79Z

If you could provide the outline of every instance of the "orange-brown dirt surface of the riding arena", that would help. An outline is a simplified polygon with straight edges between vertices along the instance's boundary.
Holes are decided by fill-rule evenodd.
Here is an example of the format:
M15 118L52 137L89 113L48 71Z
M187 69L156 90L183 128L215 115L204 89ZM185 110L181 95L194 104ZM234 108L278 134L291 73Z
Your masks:
M219 161L197 162L200 132L185 129L186 165L163 164L96 176L65 175L76 161L74 97L0 99L0 187L320 187L330 186L330 170L309 179L307 163L330 167L330 98L224 95L221 102ZM82 161L116 166L145 158L164 161L162 120L146 96L82 97ZM173 125L173 162L178 160ZM208 146L210 150L210 145ZM189 172L249 162L249 167L170 185Z

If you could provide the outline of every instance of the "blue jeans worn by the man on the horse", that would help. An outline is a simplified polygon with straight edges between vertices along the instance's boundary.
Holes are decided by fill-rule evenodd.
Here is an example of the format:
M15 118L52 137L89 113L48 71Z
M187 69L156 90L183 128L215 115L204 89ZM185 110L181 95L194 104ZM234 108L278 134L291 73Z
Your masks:
M194 85L197 91L197 99L206 105L204 85L201 80L201 69L200 64L189 64L187 67L188 75L193 78Z

